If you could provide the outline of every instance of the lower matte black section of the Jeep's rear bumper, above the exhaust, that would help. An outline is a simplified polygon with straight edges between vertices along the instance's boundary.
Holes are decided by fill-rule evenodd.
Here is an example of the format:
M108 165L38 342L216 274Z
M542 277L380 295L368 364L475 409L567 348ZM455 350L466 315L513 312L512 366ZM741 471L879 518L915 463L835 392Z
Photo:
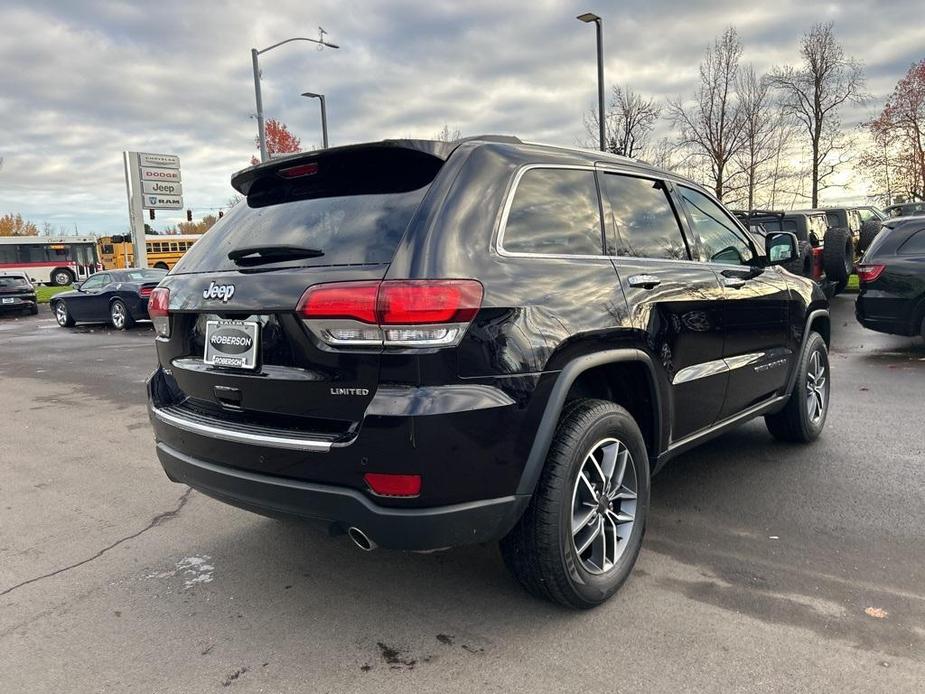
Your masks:
M433 508L387 508L346 487L315 484L197 460L165 443L157 456L167 476L207 496L270 516L357 527L390 549L429 550L492 542L506 535L529 502L507 496Z

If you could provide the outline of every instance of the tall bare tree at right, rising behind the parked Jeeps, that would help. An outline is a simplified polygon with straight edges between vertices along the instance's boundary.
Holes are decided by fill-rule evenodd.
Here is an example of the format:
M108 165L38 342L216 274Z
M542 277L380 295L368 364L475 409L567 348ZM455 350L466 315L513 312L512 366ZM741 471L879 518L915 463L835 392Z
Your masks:
M803 36L800 57L798 68L775 68L771 83L781 91L787 112L797 119L811 143L811 199L817 207L819 192L846 161L848 143L841 131L839 108L864 99L864 75L860 63L845 56L831 22L816 24Z

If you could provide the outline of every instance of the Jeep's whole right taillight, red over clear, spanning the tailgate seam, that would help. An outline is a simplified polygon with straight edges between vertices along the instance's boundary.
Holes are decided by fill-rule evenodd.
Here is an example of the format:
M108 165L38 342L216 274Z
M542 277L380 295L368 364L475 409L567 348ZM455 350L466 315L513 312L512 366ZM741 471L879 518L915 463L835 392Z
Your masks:
M458 344L482 304L476 280L338 282L309 287L298 312L329 345Z

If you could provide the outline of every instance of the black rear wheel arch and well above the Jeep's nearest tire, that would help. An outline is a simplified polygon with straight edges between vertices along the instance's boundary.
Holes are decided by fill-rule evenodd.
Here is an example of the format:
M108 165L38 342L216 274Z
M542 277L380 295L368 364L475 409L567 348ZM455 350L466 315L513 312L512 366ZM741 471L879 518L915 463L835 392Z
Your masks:
M647 386L644 394L625 388L638 385L640 381ZM601 397L626 408L639 424L646 446L650 447L650 460L656 460L662 440L662 406L657 383L652 359L638 349L595 352L566 364L546 401L516 493L533 494L562 411L569 399L575 397Z

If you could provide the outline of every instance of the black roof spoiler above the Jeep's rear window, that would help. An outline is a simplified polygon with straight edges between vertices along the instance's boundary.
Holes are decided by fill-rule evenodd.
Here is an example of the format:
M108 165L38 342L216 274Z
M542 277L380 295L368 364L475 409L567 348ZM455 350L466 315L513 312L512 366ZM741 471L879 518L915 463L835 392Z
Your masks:
M299 166L317 165L324 167L325 162L331 162L344 158L353 158L364 154L382 155L388 152L400 153L402 151L411 155L418 153L420 159L432 158L439 160L442 164L453 151L466 142L506 142L511 144L520 144L520 139L509 135L476 135L474 137L465 137L452 142L443 142L440 140L382 140L380 142L365 142L355 145L345 145L343 147L330 147L328 149L318 149L310 152L296 152L281 157L275 157L270 161L249 166L246 169L232 174L231 186L242 195L249 195L258 181L264 183L270 180L283 181L290 177L288 172L296 170Z

